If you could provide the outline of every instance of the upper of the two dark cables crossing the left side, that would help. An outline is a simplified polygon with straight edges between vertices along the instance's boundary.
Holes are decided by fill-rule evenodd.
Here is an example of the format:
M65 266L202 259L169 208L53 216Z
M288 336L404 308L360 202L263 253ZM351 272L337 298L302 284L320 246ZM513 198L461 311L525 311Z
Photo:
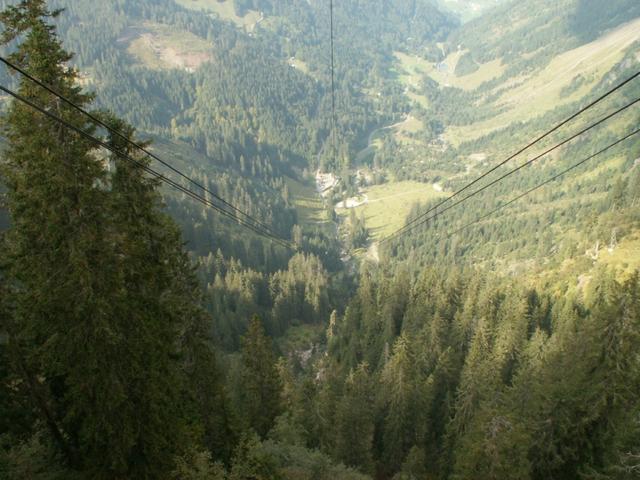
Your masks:
M45 89L46 91L48 91L49 93L51 93L55 97L59 98L60 100L65 102L67 105L69 105L72 108L74 108L75 110L77 110L78 112L82 113L87 118L89 118L93 123L95 123L97 126L100 126L100 127L104 128L104 129L106 129L111 134L117 136L121 140L124 140L129 145L131 145L132 147L137 148L138 150L140 150L141 152L145 153L150 158L152 158L152 159L156 160L157 162L159 162L160 164L164 165L169 170L171 170L172 172L176 173L177 175L179 175L183 179L187 180L192 185L202 189L202 191L204 191L208 195L211 195L211 197L213 197L216 200L218 200L225 207L228 207L233 212L236 212L237 214L242 215L248 221L254 223L257 227L262 228L262 229L270 232L271 234L278 236L277 233L273 232L272 229L268 225L262 223L261 221L257 220L253 216L251 216L248 213L246 213L246 212L242 211L241 209L237 208L235 205L231 204L230 202L228 202L224 198L220 197L215 192L211 191L210 189L208 189L207 187L202 185L200 182L194 180L193 178L191 178L190 176L188 176L184 172L180 171L178 168L174 167L169 162L163 160L162 158L160 158L158 155L156 155L153 152L151 152L149 149L147 149L143 145L135 142L134 140L132 140L128 136L122 134L121 132L119 132L115 128L113 128L110 125L106 124L105 122L100 120L96 115L92 114L91 112L88 112L87 110L82 108L80 105L78 105L76 102L70 100L65 95L62 95L61 93L59 93L56 89L54 89L50 85L47 85L45 82L43 82L43 81L39 80L38 78L34 77L29 72L27 72L26 70L24 70L20 66L16 65L14 62L11 62L9 59L7 59L7 58L5 58L3 56L0 56L0 62L4 63L7 67L11 68L12 70L18 72L19 74L21 74L25 78L29 79L31 82L35 83L39 87Z

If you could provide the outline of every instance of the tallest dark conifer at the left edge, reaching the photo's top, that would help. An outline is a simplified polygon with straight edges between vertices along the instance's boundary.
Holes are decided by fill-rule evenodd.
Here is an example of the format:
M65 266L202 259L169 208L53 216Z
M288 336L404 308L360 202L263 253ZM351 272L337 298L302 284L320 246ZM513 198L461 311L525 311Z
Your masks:
M75 73L64 66L71 56L48 24L58 13L48 11L43 0L8 7L0 16L3 41L22 38L12 60L86 106L90 97L74 86ZM34 84L21 81L19 93L91 131ZM11 105L4 130L8 149L2 173L13 222L6 243L8 277L20 285L14 315L22 328L13 341L22 358L15 361L24 365L34 385L32 402L58 448L69 464L79 466L82 429L74 427L77 420L67 412L85 413L82 407L69 407L97 398L97 392L84 389L83 377L97 374L100 353L94 356L86 345L105 338L111 306L101 300L113 286L107 268L114 259L105 235L106 192L95 188L105 175L86 140L27 106ZM39 377L45 385L37 385Z

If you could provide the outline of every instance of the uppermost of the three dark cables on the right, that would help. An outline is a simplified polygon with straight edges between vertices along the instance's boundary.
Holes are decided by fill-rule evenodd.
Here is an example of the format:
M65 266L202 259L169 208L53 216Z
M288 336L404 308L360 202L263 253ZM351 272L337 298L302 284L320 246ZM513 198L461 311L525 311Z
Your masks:
M473 185L477 184L479 181L481 181L482 179L486 178L487 176L489 176L491 173L495 172L497 169L499 169L500 167L504 166L505 164L507 164L508 162L510 162L511 160L513 160L514 158L516 158L518 155L522 154L523 152L525 152L526 150L530 149L531 147L533 147L534 145L540 143L542 140L544 140L545 138L547 138L548 136L550 136L551 134L553 134L554 132L558 131L560 128L562 128L563 126L567 125L568 123L570 123L571 121L573 121L574 119L576 119L577 117L579 117L580 115L584 114L587 110L593 108L595 105L597 105L598 103L602 102L604 99L606 99L607 97L609 97L610 95L612 95L613 93L617 92L618 90L620 90L622 87L624 87L625 85L627 85L629 82L633 81L635 78L640 76L640 71L636 72L635 74L631 75L629 78L625 79L624 81L622 81L621 83L619 83L618 85L616 85L615 87L607 90L604 94L600 95L598 98L596 98L595 100L593 100L592 102L590 102L588 105L586 105L585 107L579 109L577 112L573 113L572 115L570 115L569 117L567 117L565 120L563 120L562 122L556 124L553 128L547 130L545 133L543 133L542 135L538 136L537 138L535 138L534 140L532 140L531 142L529 142L528 144L526 144L524 147L520 148L517 152L513 153L512 155L510 155L509 157L507 157L505 160L501 161L500 163L494 165L493 167L491 167L489 170L487 170L486 172L484 172L482 175L480 175L479 177L477 177L476 179L474 179L473 181L471 181L470 183L466 184L465 186L463 186L462 188L460 188L459 190L455 191L453 194L451 194L449 197L445 198L444 200L438 202L436 205L430 207L426 212L423 212L422 214L420 214L418 217L412 219L410 222L408 222L407 224L405 224L403 227L399 228L398 230L396 230L395 232L389 234L387 237L383 238L382 240L380 240L380 243L386 243L398 236L400 236L401 234L403 234L405 231L409 231L412 230L412 225L414 225L415 223L419 222L422 218L426 217L427 215L429 215L431 212L433 212L434 210L440 208L441 206L443 206L445 203L449 202L450 200L452 200L453 198L457 197L458 195L460 195L462 192L468 190L469 188L471 188Z

